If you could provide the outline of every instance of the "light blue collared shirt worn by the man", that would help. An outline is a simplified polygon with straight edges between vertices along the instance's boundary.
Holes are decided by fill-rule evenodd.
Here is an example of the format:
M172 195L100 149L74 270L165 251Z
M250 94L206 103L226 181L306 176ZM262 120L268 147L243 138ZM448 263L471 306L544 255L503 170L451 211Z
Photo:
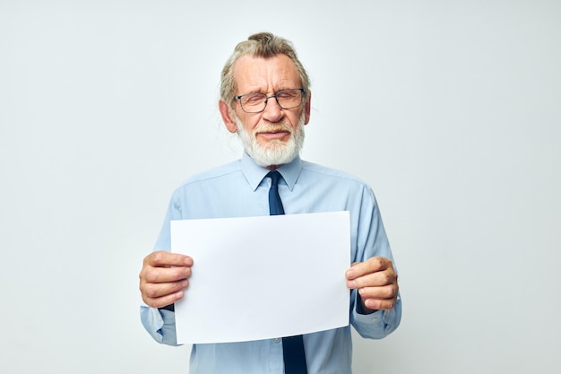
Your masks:
M279 194L286 214L350 212L351 262L383 256L393 260L372 189L358 178L299 158L278 169L284 180ZM188 178L174 191L154 250L169 250L169 222L194 218L269 215L269 170L246 154L238 161ZM194 258L196 261L196 258ZM321 262L321 258L318 258ZM313 291L313 280L307 287ZM306 286L305 286L306 287ZM188 294L188 289L186 290ZM256 295L255 297L258 297ZM381 339L400 324L401 300L391 310L358 312L357 291L351 291L350 325L358 334ZM263 313L267 308L263 306ZM318 313L321 312L318 310ZM228 310L225 311L225 317ZM162 344L177 345L174 313L141 307L142 325ZM228 344L194 344L191 374L282 374L282 340ZM309 374L351 373L350 326L304 335Z

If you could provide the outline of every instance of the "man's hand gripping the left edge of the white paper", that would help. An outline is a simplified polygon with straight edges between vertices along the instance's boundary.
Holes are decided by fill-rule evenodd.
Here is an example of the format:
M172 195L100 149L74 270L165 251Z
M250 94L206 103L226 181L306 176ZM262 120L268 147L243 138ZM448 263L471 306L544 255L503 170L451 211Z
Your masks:
M193 258L178 253L157 251L144 257L139 274L142 300L161 308L183 298L192 265Z

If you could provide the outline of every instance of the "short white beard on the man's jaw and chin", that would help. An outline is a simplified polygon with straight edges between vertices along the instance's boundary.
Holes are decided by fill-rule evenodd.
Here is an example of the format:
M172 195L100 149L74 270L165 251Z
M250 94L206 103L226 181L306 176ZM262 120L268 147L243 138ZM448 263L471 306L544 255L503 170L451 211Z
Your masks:
M234 120L237 124L237 135L244 146L244 150L257 165L263 166L264 168L272 165L289 163L298 156L302 145L304 145L305 113L302 113L302 117L298 120L296 129L292 129L292 127L286 123L274 125L275 128L281 126L283 129L290 132L290 139L288 142L272 140L269 141L266 146L259 144L255 136L255 133L263 131L263 127L265 126L257 126L253 134L249 134L239 118L235 117Z

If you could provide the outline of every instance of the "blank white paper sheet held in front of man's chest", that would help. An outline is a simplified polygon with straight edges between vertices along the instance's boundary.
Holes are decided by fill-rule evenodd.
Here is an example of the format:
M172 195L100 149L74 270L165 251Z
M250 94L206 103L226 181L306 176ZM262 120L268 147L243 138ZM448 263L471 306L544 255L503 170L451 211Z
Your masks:
M349 324L349 212L171 222L193 257L177 344L245 342Z

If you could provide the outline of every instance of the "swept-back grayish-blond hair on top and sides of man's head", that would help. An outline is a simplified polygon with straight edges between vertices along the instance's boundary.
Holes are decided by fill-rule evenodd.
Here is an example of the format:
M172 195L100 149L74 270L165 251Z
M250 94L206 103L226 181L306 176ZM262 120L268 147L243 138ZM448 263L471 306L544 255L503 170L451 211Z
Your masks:
M224 65L224 68L222 68L222 74L220 75L220 98L226 101L230 108L232 107L237 89L234 80L234 65L236 65L236 61L239 57L251 56L270 58L277 55L288 56L296 65L298 74L300 75L300 84L306 91L306 100L309 95L310 80L304 65L298 60L296 50L292 46L292 43L287 39L273 35L271 32L259 32L237 44L236 48L234 48L234 53L232 53Z

